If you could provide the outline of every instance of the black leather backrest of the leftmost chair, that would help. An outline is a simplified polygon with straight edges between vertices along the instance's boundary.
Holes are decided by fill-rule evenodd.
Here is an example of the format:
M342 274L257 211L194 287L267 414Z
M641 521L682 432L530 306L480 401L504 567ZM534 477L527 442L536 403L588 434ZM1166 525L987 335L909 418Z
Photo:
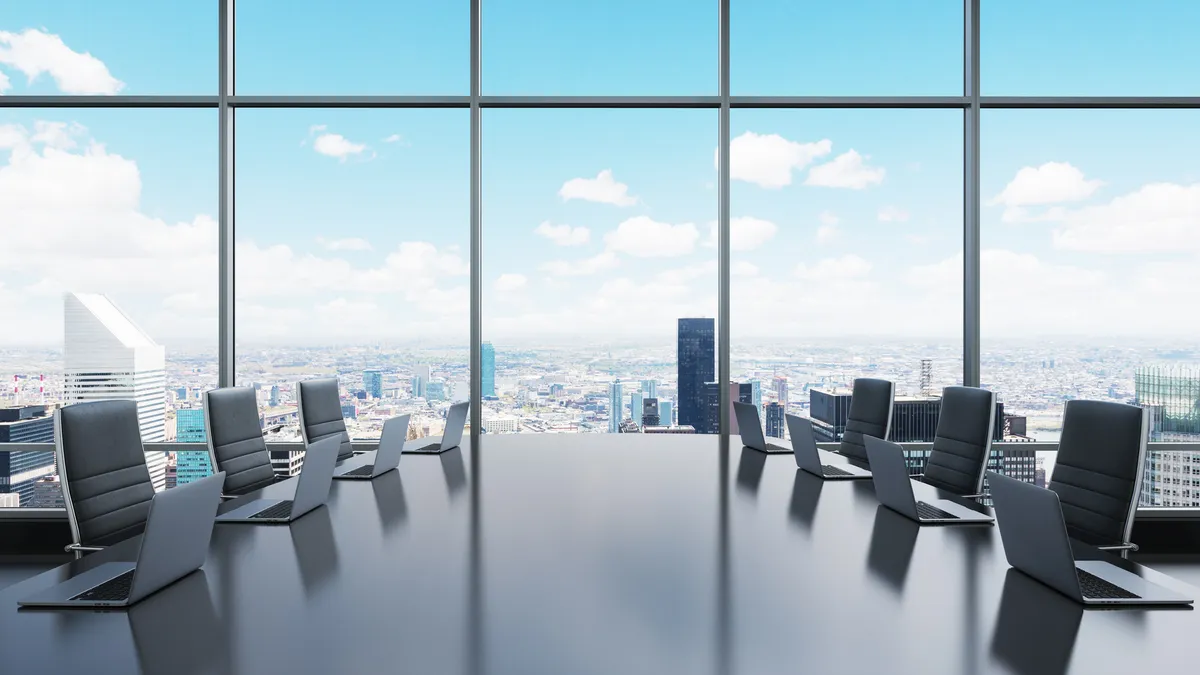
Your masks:
M154 483L137 402L94 401L55 411L54 450L77 544L107 546L142 532Z

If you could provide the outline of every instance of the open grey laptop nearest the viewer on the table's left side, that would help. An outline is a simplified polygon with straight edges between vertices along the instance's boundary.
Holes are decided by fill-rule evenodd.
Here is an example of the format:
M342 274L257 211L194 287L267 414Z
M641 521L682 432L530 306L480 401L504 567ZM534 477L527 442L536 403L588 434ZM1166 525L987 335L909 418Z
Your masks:
M208 557L224 473L156 492L133 562L106 562L19 601L20 607L120 608L196 572Z

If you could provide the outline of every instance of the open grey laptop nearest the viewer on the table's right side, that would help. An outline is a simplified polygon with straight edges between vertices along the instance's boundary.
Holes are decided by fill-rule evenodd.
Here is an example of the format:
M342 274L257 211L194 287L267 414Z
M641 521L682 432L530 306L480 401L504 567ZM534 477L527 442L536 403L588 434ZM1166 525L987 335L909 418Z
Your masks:
M988 472L1008 565L1086 605L1192 604L1103 560L1075 560L1054 490Z

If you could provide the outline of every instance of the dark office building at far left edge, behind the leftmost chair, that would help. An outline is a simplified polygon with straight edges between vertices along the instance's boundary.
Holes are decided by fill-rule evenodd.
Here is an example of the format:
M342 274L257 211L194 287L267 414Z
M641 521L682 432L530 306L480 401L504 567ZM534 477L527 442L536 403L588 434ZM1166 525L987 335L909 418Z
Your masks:
M53 443L54 417L46 406L0 408L0 449L2 443ZM12 495L13 506L32 506L34 485L54 474L54 453L0 452L0 495Z

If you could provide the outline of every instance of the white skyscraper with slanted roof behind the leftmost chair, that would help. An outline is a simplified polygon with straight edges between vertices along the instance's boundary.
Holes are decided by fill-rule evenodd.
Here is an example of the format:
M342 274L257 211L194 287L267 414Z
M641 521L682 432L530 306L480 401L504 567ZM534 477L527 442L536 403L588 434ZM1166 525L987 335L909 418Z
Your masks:
M85 401L132 400L138 404L143 443L167 438L166 353L106 295L64 297L64 398ZM156 490L167 486L167 454L146 455Z

